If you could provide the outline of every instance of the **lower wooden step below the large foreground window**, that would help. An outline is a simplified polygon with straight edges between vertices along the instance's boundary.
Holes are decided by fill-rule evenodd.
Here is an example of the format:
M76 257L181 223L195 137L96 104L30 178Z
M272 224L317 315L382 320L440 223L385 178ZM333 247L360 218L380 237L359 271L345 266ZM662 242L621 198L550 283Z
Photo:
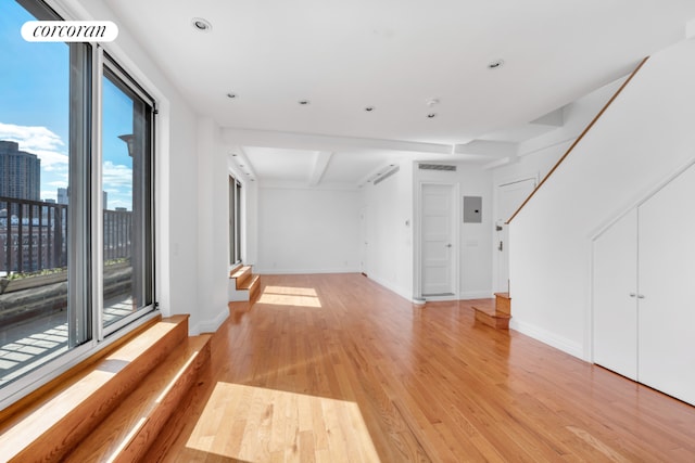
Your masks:
M140 461L210 362L211 335L185 339L70 454L71 461Z

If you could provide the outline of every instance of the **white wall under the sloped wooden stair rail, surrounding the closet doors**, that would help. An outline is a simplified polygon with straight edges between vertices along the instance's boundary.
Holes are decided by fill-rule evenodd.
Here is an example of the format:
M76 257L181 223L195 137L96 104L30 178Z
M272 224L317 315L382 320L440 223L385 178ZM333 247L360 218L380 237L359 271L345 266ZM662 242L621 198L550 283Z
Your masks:
M591 240L695 156L695 41L655 54L510 224L513 327L591 359Z

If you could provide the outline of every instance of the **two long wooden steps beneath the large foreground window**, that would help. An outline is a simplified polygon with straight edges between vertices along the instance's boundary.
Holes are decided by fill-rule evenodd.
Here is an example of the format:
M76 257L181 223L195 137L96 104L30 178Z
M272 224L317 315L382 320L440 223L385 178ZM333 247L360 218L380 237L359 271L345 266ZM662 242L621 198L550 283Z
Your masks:
M188 336L188 316L154 319L111 352L2 411L0 461L141 460L210 364L210 339Z

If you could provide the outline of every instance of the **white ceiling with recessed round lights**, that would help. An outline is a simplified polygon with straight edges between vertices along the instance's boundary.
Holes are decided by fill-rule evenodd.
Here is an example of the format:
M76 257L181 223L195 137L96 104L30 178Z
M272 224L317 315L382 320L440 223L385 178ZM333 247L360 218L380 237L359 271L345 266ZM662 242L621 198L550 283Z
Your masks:
M356 185L404 156L469 159L452 146L552 130L530 123L683 39L695 17L694 0L106 3L226 129L249 176L308 185Z

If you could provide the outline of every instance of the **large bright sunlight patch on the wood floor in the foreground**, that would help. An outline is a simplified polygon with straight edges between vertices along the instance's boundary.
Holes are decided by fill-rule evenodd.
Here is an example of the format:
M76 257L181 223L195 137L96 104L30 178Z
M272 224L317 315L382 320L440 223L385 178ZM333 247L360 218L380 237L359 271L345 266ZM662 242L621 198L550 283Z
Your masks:
M355 402L217 383L186 451L245 462L379 462Z

